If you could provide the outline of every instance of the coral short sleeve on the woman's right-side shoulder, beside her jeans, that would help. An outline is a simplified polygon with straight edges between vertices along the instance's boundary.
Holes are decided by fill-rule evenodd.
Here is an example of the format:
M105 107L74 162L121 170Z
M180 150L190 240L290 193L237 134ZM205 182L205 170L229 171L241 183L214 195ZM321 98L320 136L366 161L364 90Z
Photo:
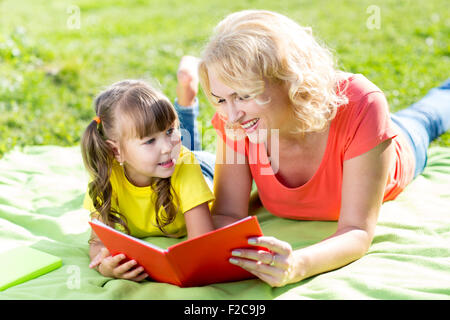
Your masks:
M380 91L368 93L355 103L349 122L344 160L357 157L381 142L394 138L389 105Z

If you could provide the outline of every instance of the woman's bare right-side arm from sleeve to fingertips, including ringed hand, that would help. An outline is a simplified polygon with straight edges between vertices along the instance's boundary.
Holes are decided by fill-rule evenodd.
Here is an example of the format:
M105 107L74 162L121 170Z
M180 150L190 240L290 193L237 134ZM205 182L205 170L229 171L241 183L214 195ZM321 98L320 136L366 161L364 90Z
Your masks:
M287 242L273 237L259 237L250 244L267 247L273 255L239 249L233 253L236 257L231 262L271 286L279 287L340 268L361 258L374 236L393 151L389 139L365 154L344 162L341 213L337 231L332 236L296 251L292 251Z

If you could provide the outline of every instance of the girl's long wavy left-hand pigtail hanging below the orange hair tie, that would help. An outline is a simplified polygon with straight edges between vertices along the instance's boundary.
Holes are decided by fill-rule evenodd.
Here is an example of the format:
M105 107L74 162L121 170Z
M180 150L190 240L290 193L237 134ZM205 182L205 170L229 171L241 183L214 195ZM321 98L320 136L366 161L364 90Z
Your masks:
M96 211L91 212L91 217L100 218L103 223L111 227L119 224L129 234L125 217L111 209L110 177L114 154L101 131L101 124L93 120L86 128L81 141L83 162L92 177L88 185L88 193Z

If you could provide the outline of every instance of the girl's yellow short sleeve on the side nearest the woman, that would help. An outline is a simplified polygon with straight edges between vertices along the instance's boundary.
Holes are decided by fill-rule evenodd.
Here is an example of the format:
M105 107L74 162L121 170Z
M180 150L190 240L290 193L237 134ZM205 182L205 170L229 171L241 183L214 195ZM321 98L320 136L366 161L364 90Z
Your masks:
M183 214L202 203L214 200L214 194L205 181L200 164L190 151L183 155L180 168L172 177L171 183Z

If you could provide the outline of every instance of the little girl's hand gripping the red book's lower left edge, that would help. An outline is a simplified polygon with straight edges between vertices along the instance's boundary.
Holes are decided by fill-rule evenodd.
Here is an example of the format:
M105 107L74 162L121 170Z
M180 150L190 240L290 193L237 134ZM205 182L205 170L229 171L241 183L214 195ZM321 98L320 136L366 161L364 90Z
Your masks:
M126 279L136 282L140 282L147 278L148 275L144 272L144 268L141 266L137 267L137 262L135 260L120 264L123 259L125 259L125 255L118 254L113 257L109 254L108 249L102 248L97 256L92 259L89 268L98 267L97 270L102 275L110 278Z

